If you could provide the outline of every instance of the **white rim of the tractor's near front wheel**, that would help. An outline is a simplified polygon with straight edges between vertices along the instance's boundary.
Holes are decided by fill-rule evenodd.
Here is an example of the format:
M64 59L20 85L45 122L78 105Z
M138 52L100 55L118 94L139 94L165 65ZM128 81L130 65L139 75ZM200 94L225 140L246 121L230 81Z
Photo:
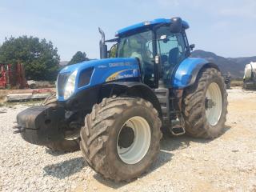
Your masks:
M131 130L134 134L131 134ZM122 139L125 139L124 136L127 136L127 133L134 135L134 138L126 141L126 144L122 144ZM117 140L118 155L122 162L135 164L141 161L150 148L150 141L150 125L146 119L139 116L128 119L119 131Z

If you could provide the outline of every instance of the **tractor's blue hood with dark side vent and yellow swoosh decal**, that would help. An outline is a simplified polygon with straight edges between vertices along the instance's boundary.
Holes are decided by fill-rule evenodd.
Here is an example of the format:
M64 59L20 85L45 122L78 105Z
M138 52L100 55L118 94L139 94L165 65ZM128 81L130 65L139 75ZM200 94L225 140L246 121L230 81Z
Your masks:
M91 86L111 81L122 81L127 78L138 78L139 67L135 58L106 58L80 62L66 66L60 71L57 79L58 100L65 101L66 82L74 75L74 94Z

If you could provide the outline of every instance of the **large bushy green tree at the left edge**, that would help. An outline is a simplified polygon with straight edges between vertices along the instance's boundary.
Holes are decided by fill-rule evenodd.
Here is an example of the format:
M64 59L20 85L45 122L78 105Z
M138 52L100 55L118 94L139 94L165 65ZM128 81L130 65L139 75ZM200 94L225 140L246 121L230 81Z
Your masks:
M60 61L58 50L46 39L22 36L6 38L0 47L0 63L16 65L21 62L26 78L33 80L55 80Z

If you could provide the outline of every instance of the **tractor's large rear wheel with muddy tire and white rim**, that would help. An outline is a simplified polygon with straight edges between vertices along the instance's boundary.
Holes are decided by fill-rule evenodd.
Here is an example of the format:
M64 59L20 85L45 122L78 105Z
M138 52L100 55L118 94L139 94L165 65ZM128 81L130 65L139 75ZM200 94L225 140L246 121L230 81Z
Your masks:
M186 134L195 138L217 138L225 128L227 103L221 73L214 68L200 71L194 85L183 93Z

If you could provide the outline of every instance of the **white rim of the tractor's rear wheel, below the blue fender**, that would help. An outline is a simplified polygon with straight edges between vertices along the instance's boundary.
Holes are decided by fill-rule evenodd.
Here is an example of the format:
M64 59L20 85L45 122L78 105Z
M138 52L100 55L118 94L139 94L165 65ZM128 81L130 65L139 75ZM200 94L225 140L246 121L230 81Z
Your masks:
M211 126L217 125L222 114L222 93L216 82L210 83L206 91L206 118Z

